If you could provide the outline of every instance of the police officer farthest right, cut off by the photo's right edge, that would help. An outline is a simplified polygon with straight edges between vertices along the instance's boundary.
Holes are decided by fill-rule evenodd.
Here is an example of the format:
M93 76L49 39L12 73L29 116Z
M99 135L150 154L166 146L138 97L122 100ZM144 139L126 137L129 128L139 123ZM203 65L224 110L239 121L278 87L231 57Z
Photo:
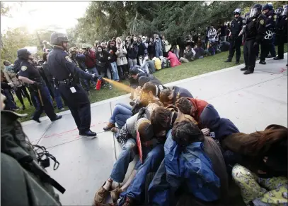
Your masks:
M277 9L278 10L278 9ZM287 42L287 11L288 5L284 7L284 9L280 9L276 11L276 13L280 14L279 18L277 19L277 42L278 42L278 56L274 58L274 60L284 59L284 43Z

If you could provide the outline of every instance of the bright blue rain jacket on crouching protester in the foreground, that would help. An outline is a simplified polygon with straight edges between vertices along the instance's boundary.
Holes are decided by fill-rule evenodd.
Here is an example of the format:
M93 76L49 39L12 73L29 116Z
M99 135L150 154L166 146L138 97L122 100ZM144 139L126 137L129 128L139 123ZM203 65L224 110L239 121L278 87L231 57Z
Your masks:
M171 131L167 135L165 158L149 186L149 204L175 205L175 191L180 186L185 186L188 193L200 200L218 200L220 180L203 150L203 143L192 143L182 150L172 140Z

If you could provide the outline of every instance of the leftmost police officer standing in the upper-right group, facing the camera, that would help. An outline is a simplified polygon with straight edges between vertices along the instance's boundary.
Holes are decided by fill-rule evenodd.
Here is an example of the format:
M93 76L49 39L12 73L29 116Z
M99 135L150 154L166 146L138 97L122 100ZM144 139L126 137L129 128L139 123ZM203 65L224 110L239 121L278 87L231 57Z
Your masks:
M231 62L234 52L236 50L236 64L240 61L241 56L241 43L242 43L242 35L240 32L243 28L243 24L245 23L245 19L241 16L241 8L236 8L234 11L234 19L231 22L231 39L230 39L230 47L229 47L229 56L225 62Z

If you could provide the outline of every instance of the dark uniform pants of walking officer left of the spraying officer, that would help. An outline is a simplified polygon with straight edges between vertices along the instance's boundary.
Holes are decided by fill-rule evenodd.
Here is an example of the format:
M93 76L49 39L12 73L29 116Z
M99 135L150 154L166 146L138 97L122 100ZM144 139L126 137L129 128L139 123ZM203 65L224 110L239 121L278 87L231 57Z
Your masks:
M36 111L33 114L34 119L39 119L42 112L45 111L47 116L50 118L50 120L54 120L56 118L56 114L54 113L53 105L51 104L50 94L47 86L40 86L39 91L41 95L41 99L38 94L38 89L32 89L33 95L38 99L39 107L37 107Z

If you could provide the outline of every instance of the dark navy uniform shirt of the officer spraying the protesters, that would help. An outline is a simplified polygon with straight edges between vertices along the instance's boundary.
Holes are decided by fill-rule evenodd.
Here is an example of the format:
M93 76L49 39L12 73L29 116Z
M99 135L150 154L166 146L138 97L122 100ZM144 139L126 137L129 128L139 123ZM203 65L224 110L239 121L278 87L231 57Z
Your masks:
M91 80L93 76L76 66L67 52L59 47L54 47L49 53L48 65L53 77L57 80L67 80L71 78L83 78Z

